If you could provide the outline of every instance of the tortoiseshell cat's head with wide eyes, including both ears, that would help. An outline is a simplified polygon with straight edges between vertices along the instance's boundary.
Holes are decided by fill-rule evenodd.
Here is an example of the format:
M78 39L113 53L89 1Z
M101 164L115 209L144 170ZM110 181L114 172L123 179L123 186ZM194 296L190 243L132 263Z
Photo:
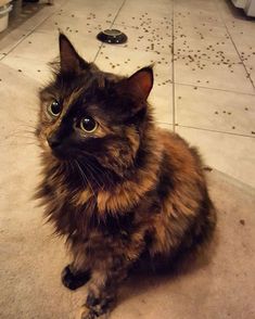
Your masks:
M60 35L60 71L40 92L37 135L60 162L94 161L116 173L131 165L148 120L151 67L120 78L82 60Z

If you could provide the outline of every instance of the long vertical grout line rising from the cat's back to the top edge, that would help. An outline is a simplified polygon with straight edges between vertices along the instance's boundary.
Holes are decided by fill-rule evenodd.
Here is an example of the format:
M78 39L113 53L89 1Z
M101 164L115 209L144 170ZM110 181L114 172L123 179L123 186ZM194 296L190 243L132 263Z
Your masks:
M176 86L175 86L175 0L173 0L173 5L171 5L171 111L173 111L173 131L176 131L176 107L175 107L175 92L176 92Z

